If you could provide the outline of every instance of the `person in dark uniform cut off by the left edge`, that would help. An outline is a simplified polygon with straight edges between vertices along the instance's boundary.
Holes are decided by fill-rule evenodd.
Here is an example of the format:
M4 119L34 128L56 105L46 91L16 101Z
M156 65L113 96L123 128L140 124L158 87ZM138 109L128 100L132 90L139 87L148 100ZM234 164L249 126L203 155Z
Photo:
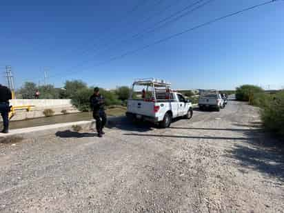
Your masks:
M9 112L10 112L10 105L9 100L12 99L12 92L6 86L0 84L0 113L3 119L3 130L2 133L9 132Z

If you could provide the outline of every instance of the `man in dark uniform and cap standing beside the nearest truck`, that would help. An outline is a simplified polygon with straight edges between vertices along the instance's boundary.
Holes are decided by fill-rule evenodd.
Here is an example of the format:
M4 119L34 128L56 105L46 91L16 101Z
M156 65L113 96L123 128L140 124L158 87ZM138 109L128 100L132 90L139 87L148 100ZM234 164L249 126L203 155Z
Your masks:
M94 88L94 94L90 97L90 105L96 120L98 136L101 137L105 134L103 128L105 127L107 117L105 114L105 99L100 94L99 88Z

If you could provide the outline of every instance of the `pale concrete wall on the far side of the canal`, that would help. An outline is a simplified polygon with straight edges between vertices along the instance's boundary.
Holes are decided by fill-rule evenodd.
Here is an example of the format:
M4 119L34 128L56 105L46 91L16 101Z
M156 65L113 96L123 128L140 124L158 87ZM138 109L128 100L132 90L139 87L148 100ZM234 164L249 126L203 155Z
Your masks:
M27 110L17 110L11 121L43 117L45 116L43 111L46 109L53 110L54 115L79 112L74 108L70 99L14 99L10 101L10 105L34 105L30 112L27 112Z

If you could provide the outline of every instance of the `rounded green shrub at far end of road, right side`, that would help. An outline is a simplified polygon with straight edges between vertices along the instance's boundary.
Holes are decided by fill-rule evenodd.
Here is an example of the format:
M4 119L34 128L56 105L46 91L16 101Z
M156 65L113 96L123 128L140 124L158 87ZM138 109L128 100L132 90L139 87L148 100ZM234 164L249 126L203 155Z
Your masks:
M263 89L256 85L241 85L236 88L236 100L250 101L254 99L254 94L263 92Z

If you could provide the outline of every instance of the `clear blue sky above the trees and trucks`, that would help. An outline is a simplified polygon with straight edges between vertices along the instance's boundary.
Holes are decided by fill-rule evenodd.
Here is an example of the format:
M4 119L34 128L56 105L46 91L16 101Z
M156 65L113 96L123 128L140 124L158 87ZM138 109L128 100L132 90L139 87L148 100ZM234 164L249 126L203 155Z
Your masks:
M276 1L175 37L121 59L156 40L263 0L214 0L148 32L193 0L1 1L0 70L12 65L24 81L57 87L81 79L115 88L156 77L174 88L232 89L243 83L284 86L284 1ZM201 1L201 3L206 0ZM142 34L141 37L133 35ZM0 79L5 83L5 79Z

